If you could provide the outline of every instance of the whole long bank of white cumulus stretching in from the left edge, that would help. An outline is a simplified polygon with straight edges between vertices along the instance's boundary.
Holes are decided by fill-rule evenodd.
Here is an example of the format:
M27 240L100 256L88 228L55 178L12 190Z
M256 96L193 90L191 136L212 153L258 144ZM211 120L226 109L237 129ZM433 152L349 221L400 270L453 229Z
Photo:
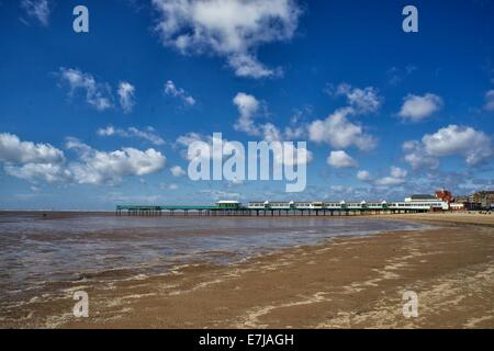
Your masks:
M99 151L76 138L68 138L67 149L78 159L68 162L64 151L49 144L21 141L12 134L0 134L0 161L7 174L30 182L76 182L81 184L119 183L126 176L145 176L161 170L166 158L150 148L142 151L122 148Z

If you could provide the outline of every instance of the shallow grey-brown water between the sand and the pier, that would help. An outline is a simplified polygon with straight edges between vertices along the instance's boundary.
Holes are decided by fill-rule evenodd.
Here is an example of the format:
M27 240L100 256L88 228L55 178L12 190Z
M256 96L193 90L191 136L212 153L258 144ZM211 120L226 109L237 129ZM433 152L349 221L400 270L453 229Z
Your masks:
M165 273L192 261L223 264L337 236L423 228L336 218L115 217L0 214L0 297L44 284Z

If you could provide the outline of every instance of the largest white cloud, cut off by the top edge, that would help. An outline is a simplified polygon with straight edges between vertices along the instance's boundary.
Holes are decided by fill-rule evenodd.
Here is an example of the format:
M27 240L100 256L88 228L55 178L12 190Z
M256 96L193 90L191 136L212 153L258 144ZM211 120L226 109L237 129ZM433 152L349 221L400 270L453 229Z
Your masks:
M225 57L239 77L277 75L256 57L263 43L290 39L300 10L292 0L153 0L166 46Z

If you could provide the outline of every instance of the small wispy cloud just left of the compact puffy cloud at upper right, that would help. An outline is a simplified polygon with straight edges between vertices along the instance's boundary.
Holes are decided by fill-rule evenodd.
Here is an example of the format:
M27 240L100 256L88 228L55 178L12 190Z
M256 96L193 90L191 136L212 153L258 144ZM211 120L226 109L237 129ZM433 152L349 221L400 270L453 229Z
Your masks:
M336 95L345 95L347 103L356 114L374 113L379 110L382 99L373 87L353 88L347 83L340 83L336 88Z

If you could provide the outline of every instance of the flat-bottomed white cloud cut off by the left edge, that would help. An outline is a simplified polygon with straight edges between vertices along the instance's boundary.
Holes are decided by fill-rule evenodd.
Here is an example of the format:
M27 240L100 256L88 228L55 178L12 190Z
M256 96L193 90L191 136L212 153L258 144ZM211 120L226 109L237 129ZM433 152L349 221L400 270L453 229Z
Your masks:
M49 144L21 141L16 135L0 134L0 161L8 163L54 163L64 160L64 151Z

